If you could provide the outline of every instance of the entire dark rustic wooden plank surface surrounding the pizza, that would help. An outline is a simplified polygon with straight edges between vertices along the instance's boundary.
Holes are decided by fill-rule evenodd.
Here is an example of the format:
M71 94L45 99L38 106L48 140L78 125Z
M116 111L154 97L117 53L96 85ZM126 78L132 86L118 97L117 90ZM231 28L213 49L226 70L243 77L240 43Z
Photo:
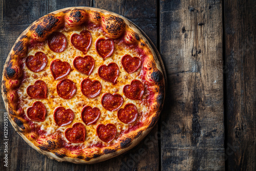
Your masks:
M256 170L256 1L23 0L0 2L0 69L16 38L52 11L90 6L138 25L158 48L168 87L153 131L134 149L94 164L37 153L9 123L0 170ZM0 101L4 129L4 103Z

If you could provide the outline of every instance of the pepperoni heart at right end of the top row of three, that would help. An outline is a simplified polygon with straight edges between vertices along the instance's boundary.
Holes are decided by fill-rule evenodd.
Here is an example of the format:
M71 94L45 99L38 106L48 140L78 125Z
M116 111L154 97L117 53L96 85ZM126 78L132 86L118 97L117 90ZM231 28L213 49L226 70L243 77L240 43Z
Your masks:
M98 38L95 42L97 53L103 58L107 58L114 52L114 41L112 39Z

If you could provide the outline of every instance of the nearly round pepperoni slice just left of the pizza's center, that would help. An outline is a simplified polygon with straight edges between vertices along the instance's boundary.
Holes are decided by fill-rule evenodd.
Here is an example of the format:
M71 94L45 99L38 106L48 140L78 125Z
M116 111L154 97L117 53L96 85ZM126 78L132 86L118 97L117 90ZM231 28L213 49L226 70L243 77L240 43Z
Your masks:
M63 99L71 99L76 93L76 84L70 79L62 79L57 84L57 93Z

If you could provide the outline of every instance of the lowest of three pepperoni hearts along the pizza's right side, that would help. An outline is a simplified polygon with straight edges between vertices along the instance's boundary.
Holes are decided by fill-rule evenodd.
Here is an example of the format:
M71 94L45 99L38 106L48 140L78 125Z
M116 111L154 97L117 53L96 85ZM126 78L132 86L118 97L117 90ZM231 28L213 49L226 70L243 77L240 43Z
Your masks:
M132 103L125 104L124 109L118 110L117 117L123 123L133 123L138 117L136 105Z

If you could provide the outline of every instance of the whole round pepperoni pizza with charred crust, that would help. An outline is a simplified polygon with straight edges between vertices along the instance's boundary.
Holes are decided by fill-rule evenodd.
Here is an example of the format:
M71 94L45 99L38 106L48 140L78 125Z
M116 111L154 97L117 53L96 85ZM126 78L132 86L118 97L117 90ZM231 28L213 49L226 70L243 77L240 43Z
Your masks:
M128 151L152 130L165 80L154 49L129 20L72 7L39 18L18 37L2 96L31 147L87 164Z

